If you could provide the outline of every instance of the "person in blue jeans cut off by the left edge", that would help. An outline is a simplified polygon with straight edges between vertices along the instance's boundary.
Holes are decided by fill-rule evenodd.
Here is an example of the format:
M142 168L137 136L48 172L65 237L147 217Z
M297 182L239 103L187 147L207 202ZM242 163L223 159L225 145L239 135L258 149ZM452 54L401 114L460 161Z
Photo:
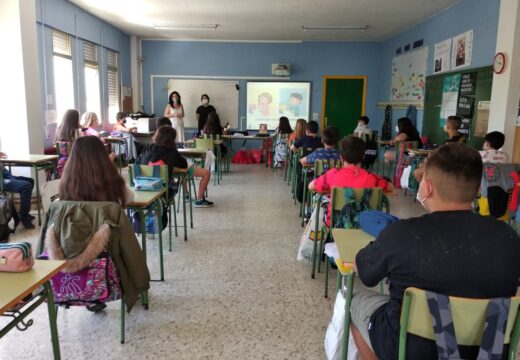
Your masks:
M7 154L0 151L0 159L6 159ZM31 210L31 197L34 188L34 180L25 176L14 176L11 172L2 166L3 186L4 190L20 194L20 211L18 217L24 228L34 229L34 216L29 214ZM15 227L18 224L15 224Z

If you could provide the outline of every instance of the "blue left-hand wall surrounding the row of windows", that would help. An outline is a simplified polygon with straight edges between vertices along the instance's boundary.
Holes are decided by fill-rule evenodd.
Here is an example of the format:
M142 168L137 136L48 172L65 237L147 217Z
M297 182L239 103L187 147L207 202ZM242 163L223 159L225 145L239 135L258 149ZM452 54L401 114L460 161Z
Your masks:
M105 49L108 48L119 52L121 84L122 86L131 86L130 36L66 0L35 0L35 6L37 36L39 39L42 119L44 119L45 110L55 109L52 101L54 97L51 34L53 29L72 35L75 103L80 113L87 111L84 91L83 42L89 41L100 45L98 54L100 60L101 106L104 109L104 114L101 116L106 117L108 114L108 94ZM52 98L47 97L46 94L51 95ZM49 101L46 101L47 99ZM46 104L47 102L48 104Z

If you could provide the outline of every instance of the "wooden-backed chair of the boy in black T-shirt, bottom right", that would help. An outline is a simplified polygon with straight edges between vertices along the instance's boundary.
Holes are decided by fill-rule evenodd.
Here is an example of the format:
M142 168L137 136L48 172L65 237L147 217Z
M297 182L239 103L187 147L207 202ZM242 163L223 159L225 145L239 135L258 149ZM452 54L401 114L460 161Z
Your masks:
M516 359L518 340L520 339L520 316L518 316L520 297L514 296L510 300L503 344L509 344L508 359ZM481 346L484 332L493 330L491 322L488 324L486 321L488 304L489 299L449 297L457 345ZM435 341L432 315L425 290L413 287L405 290L400 324L399 360L406 358L407 334Z

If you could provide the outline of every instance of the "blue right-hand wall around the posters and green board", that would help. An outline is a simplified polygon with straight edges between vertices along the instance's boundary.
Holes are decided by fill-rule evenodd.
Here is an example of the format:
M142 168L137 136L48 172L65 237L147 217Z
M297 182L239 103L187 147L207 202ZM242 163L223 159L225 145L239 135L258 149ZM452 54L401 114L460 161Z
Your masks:
M427 75L433 74L435 44L471 29L473 29L473 55L471 66L467 69L491 65L495 55L499 10L500 0L463 0L412 29L385 41L381 46L381 86L378 100L388 101L390 99L392 59L396 49L404 48L404 45L412 44L419 39L424 39L424 46L428 46ZM405 115L406 110L393 111L392 129L395 127L397 119ZM378 109L379 127L383 118L384 110ZM419 110L417 112L419 131L422 130L422 121L423 111Z

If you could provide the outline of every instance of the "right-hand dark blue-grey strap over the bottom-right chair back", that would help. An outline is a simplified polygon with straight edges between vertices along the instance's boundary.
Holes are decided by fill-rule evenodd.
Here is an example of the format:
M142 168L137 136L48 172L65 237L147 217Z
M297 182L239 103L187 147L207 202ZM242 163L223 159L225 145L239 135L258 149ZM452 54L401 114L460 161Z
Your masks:
M510 298L490 299L486 308L486 324L477 360L502 359Z

